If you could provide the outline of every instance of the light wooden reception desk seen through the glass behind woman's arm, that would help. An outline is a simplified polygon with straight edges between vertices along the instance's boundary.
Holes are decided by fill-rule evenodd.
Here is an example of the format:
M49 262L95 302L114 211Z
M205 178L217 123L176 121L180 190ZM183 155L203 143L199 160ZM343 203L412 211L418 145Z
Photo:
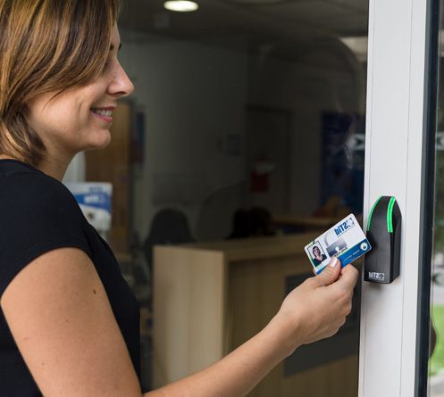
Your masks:
M315 236L155 247L155 387L211 365L264 327L289 290L313 275L304 246ZM355 306L336 339L303 346L249 395L356 397Z

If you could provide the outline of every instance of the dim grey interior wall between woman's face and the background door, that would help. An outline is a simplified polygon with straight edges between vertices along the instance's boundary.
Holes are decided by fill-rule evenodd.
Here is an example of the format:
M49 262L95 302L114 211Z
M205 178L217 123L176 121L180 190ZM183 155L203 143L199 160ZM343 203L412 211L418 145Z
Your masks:
M243 156L228 155L225 144L245 129L247 56L173 40L138 43L125 32L121 39L121 64L146 115L134 226L144 238L155 211L170 203L194 227L205 197L244 178Z

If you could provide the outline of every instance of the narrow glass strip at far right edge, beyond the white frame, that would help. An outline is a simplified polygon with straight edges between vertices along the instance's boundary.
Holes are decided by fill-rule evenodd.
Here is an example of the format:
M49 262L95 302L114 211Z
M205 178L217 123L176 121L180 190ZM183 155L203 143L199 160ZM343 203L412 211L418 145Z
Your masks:
M428 123L429 145L427 147L428 172L426 193L429 196L428 224L424 244L430 254L425 257L422 279L420 321L421 354L419 355L420 385L431 397L444 396L444 77L443 56L443 1L433 4L431 31L431 71L429 84L430 115ZM434 199L432 201L432 199Z

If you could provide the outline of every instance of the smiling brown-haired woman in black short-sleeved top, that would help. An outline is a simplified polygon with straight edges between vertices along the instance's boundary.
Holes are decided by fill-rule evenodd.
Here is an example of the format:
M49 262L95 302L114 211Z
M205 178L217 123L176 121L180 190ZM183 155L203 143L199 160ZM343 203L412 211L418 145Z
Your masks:
M142 395L137 302L61 183L74 154L108 145L113 108L133 90L117 60L118 9L0 0L2 395ZM356 277L331 262L239 349L144 395L245 395L297 346L336 333Z

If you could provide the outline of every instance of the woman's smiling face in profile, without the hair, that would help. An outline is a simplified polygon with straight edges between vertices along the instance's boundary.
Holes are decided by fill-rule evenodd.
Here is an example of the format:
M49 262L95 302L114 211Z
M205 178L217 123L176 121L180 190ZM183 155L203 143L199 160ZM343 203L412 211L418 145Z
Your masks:
M75 153L109 144L117 100L134 90L117 60L120 45L119 31L114 26L105 69L98 79L87 86L71 87L51 101L55 92L39 95L28 104L29 124L50 157L71 161Z

